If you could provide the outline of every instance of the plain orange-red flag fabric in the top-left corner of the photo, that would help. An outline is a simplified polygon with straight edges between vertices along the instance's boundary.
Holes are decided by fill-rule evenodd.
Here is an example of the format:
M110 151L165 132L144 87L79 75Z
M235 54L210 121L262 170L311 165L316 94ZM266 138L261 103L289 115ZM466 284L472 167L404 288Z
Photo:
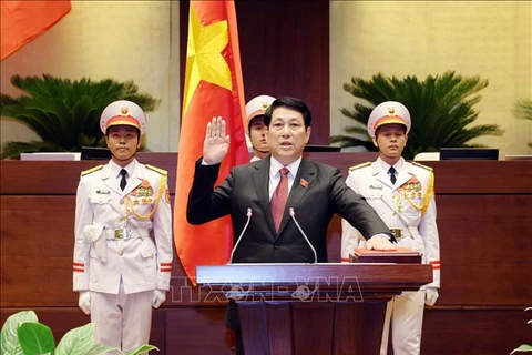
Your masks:
M70 12L70 0L1 0L1 59L44 33Z

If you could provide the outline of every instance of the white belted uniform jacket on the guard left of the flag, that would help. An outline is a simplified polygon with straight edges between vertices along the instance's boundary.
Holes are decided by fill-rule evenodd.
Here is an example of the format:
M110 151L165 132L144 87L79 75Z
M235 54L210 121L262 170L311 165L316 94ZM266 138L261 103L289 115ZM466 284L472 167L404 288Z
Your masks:
M173 240L166 179L166 171L136 160L124 191L111 162L82 172L75 205L74 291L117 294L121 282L126 294L170 288Z

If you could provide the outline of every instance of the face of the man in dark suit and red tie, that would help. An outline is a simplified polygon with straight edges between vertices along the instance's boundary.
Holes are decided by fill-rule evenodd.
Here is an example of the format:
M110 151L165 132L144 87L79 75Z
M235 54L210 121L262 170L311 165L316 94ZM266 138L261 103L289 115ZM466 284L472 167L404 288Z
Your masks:
M301 156L310 139L310 128L305 129L300 112L280 106L272 113L266 138L272 155L288 165Z

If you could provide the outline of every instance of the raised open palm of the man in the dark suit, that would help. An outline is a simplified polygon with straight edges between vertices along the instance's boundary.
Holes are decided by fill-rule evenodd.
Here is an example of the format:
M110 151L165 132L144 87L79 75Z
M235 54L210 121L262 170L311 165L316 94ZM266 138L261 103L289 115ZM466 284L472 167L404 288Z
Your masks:
M207 132L203 143L203 160L207 164L222 162L229 151L229 135L226 133L226 123L221 116L213 118L207 124Z

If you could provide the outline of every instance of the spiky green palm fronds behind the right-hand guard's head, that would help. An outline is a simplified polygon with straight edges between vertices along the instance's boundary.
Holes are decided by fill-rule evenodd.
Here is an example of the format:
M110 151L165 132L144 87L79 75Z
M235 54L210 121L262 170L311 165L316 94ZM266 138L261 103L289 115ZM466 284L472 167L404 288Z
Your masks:
M344 128L350 135L332 135L332 143L340 146L364 146L376 151L366 131L369 114L375 105L383 101L399 101L410 111L412 128L408 134L405 158L413 159L420 152L438 152L442 146L482 146L470 143L482 135L502 135L504 131L495 124L471 124L479 113L473 105L481 100L479 91L488 87L479 77L463 78L453 71L441 75L428 75L420 81L416 77L374 75L370 80L352 78L344 90L357 100L352 110L340 112L352 119L354 125ZM360 100L369 104L360 103Z

